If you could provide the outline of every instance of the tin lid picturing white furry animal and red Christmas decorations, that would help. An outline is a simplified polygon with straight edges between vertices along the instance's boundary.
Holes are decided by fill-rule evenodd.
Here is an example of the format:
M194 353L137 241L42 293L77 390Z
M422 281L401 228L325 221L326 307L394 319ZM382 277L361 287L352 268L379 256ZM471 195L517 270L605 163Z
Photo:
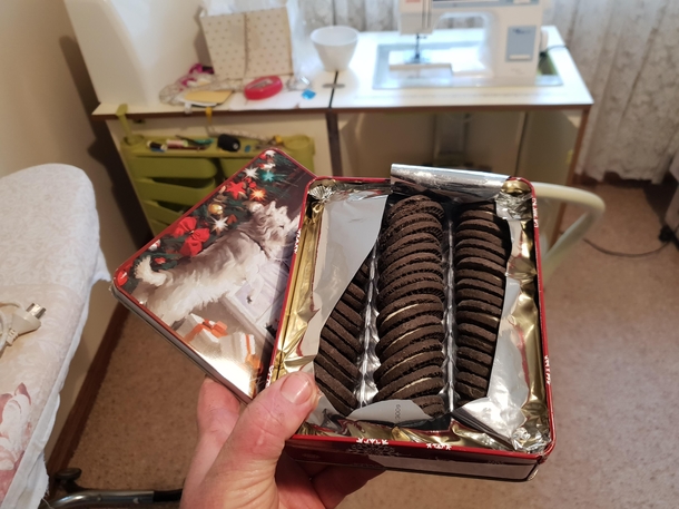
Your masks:
M245 402L266 381L314 178L267 149L116 271L114 295Z

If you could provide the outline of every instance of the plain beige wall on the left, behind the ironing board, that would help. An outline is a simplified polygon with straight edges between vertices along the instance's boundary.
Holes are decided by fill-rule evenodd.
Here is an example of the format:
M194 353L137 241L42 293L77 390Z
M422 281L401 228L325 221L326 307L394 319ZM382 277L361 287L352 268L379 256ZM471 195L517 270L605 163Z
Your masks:
M94 125L89 119L96 97L61 1L0 1L0 176L45 163L82 168L97 196L101 247L109 271L115 270L136 251L121 211L134 217L138 205L125 188L125 170L106 126ZM37 216L49 214L41 204L29 205L28 211ZM145 228L140 228L140 235ZM95 285L89 320L61 391L48 453L82 385L115 305L108 284Z

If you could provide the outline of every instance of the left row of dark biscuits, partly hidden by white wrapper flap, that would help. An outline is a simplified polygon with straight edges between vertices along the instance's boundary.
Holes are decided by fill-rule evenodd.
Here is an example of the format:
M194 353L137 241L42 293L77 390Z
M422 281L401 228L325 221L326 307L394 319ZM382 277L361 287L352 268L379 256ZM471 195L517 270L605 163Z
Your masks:
M331 404L343 415L358 407L354 395L361 380L356 366L363 351L361 333L367 304L368 262L364 262L321 331L314 360L316 382Z

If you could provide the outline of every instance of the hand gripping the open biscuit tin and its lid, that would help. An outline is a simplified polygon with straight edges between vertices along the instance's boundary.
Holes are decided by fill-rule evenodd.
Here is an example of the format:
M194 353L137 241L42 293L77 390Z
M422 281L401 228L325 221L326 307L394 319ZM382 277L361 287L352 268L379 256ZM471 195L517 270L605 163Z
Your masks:
M313 378L297 372L265 389L239 415L238 400L206 379L181 508L332 508L378 476L378 470L297 463L283 454L285 440L317 402Z

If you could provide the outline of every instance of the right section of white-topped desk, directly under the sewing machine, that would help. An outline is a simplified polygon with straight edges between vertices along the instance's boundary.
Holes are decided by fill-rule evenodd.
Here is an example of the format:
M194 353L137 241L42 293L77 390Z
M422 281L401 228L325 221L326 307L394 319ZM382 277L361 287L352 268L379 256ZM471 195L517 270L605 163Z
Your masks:
M548 57L562 81L558 86L374 89L377 46L412 42L413 37L361 33L350 69L337 75L331 102L335 174L384 177L391 163L431 160L435 116L464 114L465 155L473 167L571 184L593 100L559 31L547 30ZM440 30L427 42L468 38L469 31L479 32Z

